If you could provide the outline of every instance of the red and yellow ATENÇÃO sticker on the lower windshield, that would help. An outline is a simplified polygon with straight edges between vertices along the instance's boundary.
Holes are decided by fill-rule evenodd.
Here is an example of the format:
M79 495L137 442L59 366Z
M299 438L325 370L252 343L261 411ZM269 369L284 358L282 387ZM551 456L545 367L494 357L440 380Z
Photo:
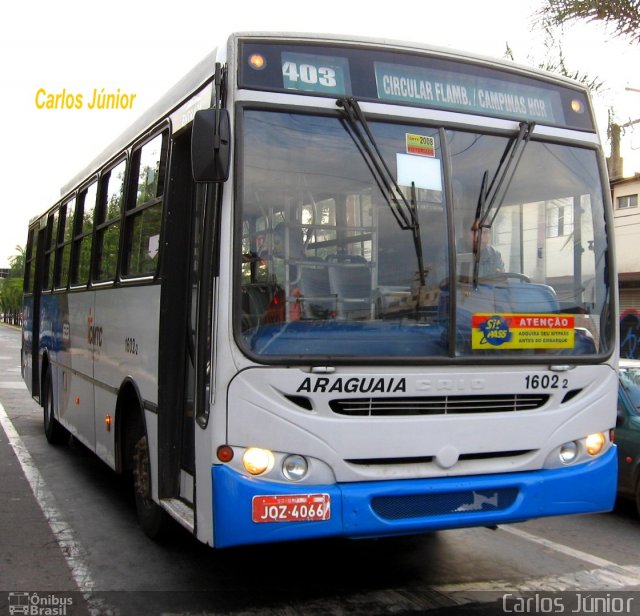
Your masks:
M572 349L575 323L571 315L474 314L471 348Z

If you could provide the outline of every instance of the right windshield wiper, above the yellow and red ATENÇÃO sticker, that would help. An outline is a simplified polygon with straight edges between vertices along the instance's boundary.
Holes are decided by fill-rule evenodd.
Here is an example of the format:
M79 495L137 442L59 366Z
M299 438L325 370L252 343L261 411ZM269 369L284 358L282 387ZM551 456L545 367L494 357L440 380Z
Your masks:
M504 198L509 190L511 180L520 164L520 159L535 128L534 122L521 122L518 134L512 138L502 154L498 168L487 186L489 170L482 176L480 195L476 206L476 215L471 225L473 231L473 288L478 288L480 271L480 252L482 250L482 231L491 229Z

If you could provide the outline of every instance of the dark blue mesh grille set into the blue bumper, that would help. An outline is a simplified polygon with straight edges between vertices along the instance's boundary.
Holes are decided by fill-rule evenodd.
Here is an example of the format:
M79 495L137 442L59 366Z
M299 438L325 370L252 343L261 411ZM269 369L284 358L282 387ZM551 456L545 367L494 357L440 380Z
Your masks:
M434 515L500 511L513 505L517 496L517 488L378 496L371 501L371 507L386 520L404 520Z

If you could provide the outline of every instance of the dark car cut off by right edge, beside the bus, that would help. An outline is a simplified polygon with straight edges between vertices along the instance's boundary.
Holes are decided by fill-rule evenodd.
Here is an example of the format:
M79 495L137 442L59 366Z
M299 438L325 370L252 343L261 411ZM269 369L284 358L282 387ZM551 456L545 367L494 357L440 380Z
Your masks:
M640 516L640 360L621 359L618 373L618 496L634 500Z

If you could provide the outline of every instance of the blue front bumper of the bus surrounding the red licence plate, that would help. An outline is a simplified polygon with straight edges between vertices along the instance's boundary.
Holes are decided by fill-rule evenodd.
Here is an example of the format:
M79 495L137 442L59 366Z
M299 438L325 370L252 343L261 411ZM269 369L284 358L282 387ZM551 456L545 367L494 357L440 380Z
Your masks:
M331 485L290 485L212 467L214 545L383 537L450 528L493 526L531 518L595 513L613 507L617 456L576 467L501 475L407 479ZM252 521L252 499L263 495L328 494L326 521Z

